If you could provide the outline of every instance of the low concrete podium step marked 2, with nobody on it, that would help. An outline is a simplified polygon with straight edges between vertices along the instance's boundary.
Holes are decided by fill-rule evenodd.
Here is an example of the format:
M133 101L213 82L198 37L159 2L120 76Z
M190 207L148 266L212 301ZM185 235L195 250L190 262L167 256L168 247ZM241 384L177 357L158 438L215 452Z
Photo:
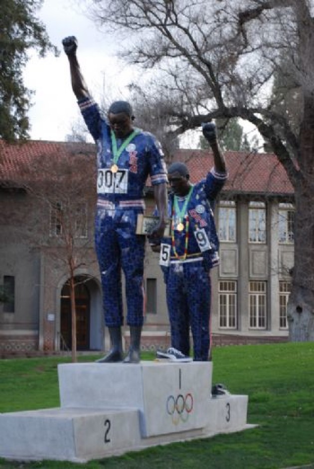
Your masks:
M141 441L137 409L56 408L0 415L0 455L22 460L89 459Z

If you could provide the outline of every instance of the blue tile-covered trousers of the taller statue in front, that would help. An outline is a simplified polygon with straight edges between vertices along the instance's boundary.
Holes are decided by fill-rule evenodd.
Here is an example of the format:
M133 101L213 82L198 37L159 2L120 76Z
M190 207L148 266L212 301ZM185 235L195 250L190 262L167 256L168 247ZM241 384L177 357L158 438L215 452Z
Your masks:
M127 324L142 326L144 314L145 236L135 234L137 209L99 209L95 221L95 248L103 289L105 324L123 325L121 269L125 274Z

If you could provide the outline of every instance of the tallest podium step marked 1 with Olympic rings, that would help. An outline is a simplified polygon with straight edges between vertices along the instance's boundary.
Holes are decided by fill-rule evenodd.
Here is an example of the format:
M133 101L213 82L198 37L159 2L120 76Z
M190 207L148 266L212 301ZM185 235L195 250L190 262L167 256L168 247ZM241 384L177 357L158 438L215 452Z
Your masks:
M205 427L212 363L58 366L61 407L136 408L143 438Z

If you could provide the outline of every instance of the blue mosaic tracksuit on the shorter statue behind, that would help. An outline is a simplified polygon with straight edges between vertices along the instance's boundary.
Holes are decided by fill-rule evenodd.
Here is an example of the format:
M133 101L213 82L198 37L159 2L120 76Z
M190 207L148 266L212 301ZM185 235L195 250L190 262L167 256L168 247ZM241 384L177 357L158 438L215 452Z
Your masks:
M211 301L208 272L219 263L219 241L212 209L226 178L225 173L219 174L212 169L206 179L195 184L186 208L184 230L176 230L177 221L174 220L173 239L162 240L162 243L167 244L170 249L168 266L162 265L161 268L166 283L171 346L184 355L189 355L189 326L191 326L195 361L208 360ZM170 194L169 217L172 216L173 199L173 195ZM178 203L181 209L183 200L180 202L178 199ZM186 238L187 220L189 228ZM177 256L183 256L186 239L188 240L186 258L180 259L175 256L174 248ZM161 245L160 255L162 249Z

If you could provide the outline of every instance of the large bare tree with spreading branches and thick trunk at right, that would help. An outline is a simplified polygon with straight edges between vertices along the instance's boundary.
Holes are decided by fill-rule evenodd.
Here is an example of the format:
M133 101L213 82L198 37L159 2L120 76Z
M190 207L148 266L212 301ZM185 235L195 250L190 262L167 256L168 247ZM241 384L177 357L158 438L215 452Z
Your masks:
M314 201L314 2L91 3L95 20L106 31L128 38L124 58L158 70L155 89L172 96L174 135L210 119L241 117L258 128L278 156L296 203L290 337L314 340L314 211L309 210ZM283 68L283 57L291 66ZM300 96L299 126L273 102L276 73L284 74L290 92Z

